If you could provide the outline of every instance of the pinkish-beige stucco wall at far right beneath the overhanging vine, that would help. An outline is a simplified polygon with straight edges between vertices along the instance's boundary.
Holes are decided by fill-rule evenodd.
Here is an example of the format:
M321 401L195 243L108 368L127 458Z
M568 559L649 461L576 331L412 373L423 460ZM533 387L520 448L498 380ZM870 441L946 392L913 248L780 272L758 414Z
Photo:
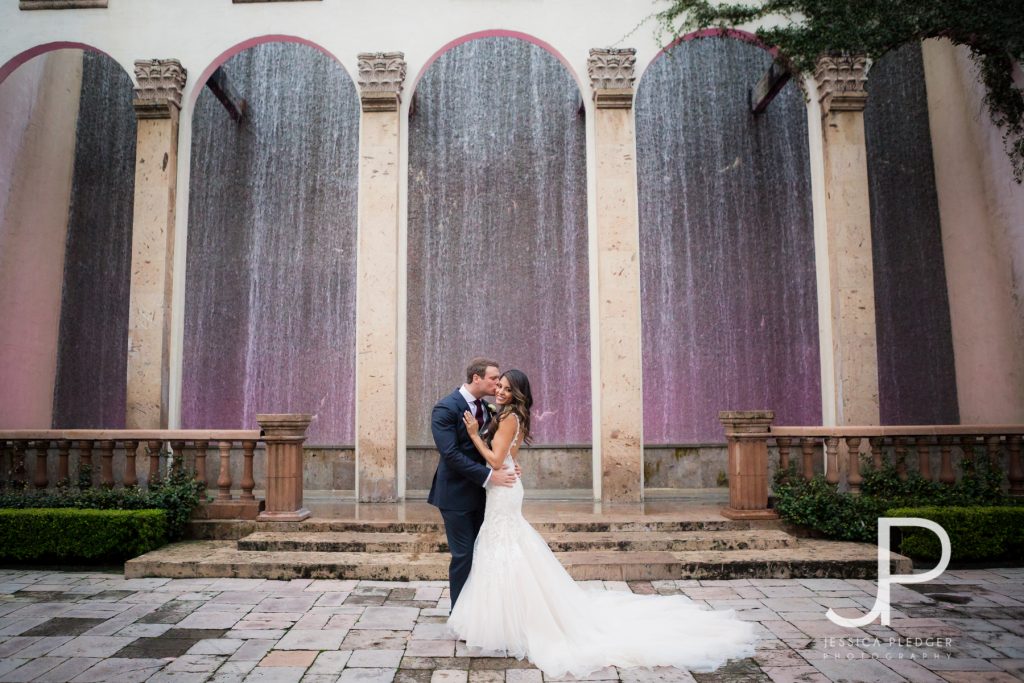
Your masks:
M967 48L928 41L923 51L961 421L1021 423L1024 186Z

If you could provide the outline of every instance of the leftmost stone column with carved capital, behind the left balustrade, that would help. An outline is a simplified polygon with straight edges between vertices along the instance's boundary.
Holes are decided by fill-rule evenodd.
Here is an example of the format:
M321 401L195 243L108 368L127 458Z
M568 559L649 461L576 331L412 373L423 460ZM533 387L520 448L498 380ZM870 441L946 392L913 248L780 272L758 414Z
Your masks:
M178 112L185 75L176 59L135 62L138 131L128 311L128 429L167 427Z

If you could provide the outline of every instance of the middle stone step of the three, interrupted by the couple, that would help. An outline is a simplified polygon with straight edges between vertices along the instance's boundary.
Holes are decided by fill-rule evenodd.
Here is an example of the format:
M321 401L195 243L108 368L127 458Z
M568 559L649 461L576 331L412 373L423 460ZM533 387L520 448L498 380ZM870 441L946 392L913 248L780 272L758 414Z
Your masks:
M697 551L791 548L796 539L774 529L724 531L550 531L541 535L554 552ZM238 542L239 550L328 553L445 553L440 531L256 531Z

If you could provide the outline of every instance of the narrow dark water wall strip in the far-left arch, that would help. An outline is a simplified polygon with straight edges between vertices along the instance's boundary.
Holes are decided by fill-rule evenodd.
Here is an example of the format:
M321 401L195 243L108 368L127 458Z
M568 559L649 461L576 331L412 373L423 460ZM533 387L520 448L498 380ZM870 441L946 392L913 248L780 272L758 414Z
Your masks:
M98 52L82 56L68 212L53 427L123 428L135 187L131 78Z

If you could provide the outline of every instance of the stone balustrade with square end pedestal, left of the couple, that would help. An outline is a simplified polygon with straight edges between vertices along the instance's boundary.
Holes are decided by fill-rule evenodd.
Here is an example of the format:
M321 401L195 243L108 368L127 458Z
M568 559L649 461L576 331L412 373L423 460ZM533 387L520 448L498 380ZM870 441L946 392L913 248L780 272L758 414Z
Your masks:
M259 430L0 430L0 482L39 490L66 485L145 488L166 477L171 467L183 467L206 488L216 466L216 494L208 493L198 516L255 519L264 509L273 511L273 518L308 516L302 507L301 462L309 416L260 415L257 421ZM241 454L238 482L231 474L232 453L237 458ZM265 501L254 494L257 453L267 459Z

